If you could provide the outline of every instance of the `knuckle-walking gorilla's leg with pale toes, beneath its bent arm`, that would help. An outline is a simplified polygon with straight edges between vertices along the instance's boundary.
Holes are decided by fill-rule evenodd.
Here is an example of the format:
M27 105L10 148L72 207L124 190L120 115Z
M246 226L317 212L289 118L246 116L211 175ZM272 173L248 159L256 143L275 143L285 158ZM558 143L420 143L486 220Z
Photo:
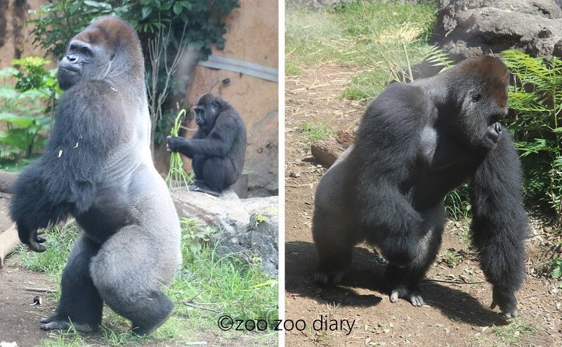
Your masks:
M386 268L386 284L391 297L391 302L404 298L414 306L422 306L424 299L419 291L419 281L426 274L427 269L436 258L441 244L441 236L445 225L445 210L441 204L421 212L424 218L424 230L426 235L421 238L417 256L410 265L399 268L388 264Z

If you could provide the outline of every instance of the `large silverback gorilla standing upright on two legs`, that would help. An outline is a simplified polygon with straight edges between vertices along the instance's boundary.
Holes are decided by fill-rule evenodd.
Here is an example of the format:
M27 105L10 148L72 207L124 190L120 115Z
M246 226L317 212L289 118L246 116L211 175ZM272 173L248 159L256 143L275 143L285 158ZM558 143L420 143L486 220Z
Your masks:
M103 17L77 34L58 65L65 95L45 154L13 185L23 243L45 251L37 228L74 216L84 230L41 329L96 329L103 302L150 334L174 310L161 290L181 263L180 226L150 157L144 62L136 32Z

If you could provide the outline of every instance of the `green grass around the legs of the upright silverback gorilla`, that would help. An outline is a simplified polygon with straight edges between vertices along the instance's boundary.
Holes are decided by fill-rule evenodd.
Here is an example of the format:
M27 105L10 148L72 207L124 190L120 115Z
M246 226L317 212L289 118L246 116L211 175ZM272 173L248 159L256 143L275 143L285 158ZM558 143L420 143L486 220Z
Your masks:
M176 303L176 310L162 327L148 338L138 339L128 332L128 320L105 307L99 332L80 334L72 328L67 332L53 332L49 334L51 339L43 341L41 346L90 346L98 343L142 346L157 341L187 343L197 341L194 336L205 332L225 338L233 336L234 332L221 332L216 326L221 315L229 315L235 320L266 320L270 323L268 326L272 326L273 320L278 317L278 285L261 270L261 258L251 254L244 257L240 254L219 255L216 247L203 241L212 233L209 228L185 219L182 219L181 225L183 266L165 289ZM47 250L44 253L32 253L25 247L18 249L23 265L46 273L59 284L68 254L79 233L79 228L74 226L47 230L44 234ZM201 240L201 247L193 246L197 240ZM54 296L58 301L60 292ZM259 345L271 345L276 343L277 333L267 331L254 334L253 338Z

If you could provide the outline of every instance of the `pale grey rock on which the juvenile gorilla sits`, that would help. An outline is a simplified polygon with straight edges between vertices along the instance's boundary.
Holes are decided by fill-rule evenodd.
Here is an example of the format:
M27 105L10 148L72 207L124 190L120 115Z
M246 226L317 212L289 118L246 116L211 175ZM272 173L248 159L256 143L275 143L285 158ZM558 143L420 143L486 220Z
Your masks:
M218 227L214 235L221 255L258 254L263 270L277 278L278 256L278 197L239 199L233 190L220 197L202 192L176 190L171 192L178 216L193 218L204 225Z

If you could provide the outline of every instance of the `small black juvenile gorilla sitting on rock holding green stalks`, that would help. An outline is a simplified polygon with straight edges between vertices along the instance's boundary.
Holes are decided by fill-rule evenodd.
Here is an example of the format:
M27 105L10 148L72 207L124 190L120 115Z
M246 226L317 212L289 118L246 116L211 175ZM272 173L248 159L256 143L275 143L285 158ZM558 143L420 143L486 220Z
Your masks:
M190 190L218 196L242 174L246 127L220 96L204 94L193 108L199 129L190 140L168 136L166 150L192 159L196 181Z

